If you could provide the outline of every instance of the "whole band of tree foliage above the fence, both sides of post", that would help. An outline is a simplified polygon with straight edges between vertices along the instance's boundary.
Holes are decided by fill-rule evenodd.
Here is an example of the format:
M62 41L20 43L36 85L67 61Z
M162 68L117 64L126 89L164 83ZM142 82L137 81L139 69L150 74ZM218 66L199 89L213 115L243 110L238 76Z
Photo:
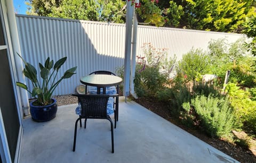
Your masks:
M241 32L255 15L256 0L140 0L137 13L147 24L196 30ZM27 14L125 22L123 0L29 0ZM254 7L253 7L254 6Z

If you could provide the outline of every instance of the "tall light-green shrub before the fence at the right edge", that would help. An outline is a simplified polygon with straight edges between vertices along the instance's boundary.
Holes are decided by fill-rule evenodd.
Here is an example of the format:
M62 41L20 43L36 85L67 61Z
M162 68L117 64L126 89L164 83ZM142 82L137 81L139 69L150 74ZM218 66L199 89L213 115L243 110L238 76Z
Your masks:
M226 72L230 70L230 82L238 83L243 87L254 87L256 84L256 75L252 70L253 65L255 65L255 57L247 52L244 42L244 38L232 44L227 44L225 39L212 40L210 42L210 73L218 75L222 79L222 83Z

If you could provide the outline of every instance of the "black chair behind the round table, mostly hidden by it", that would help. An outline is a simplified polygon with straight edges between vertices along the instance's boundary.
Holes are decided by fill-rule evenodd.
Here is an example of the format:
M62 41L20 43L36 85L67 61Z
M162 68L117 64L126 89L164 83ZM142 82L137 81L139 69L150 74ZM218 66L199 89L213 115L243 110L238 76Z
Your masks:
M103 70L100 70L100 71L94 71L92 73L90 73L89 75L92 75L92 74L106 74L106 75L115 75L113 72L110 72L110 71L103 71ZM85 85L85 92L87 92L87 85ZM119 85L116 86L116 93L119 94ZM119 97L117 96L114 100L114 111L115 111L115 119L116 121L118 121L118 101L119 101ZM115 128L116 128L116 121L115 121Z

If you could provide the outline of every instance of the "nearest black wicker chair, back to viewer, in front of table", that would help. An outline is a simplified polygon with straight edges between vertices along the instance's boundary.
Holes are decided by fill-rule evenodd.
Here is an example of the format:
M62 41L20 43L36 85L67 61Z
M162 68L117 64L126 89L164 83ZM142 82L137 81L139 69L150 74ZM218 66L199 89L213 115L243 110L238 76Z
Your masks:
M75 134L74 134L74 144L73 151L76 149L76 133L77 133L77 123L80 122L80 127L82 127L81 119L84 118L84 128L86 128L87 119L108 119L111 123L111 145L112 153L114 153L114 129L113 122L109 115L107 115L107 103L109 97L117 97L118 95L81 95L73 94L73 96L78 97L78 102L81 105L81 115L76 120L75 123Z

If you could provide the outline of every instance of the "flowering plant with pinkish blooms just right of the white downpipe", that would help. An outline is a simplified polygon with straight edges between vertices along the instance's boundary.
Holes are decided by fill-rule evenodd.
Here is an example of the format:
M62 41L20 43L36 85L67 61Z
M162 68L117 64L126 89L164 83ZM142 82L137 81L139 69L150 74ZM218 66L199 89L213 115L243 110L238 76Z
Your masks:
M143 54L137 56L134 90L138 97L145 93L153 96L166 85L175 61L167 58L166 48L155 48L151 43L143 44L142 48Z

